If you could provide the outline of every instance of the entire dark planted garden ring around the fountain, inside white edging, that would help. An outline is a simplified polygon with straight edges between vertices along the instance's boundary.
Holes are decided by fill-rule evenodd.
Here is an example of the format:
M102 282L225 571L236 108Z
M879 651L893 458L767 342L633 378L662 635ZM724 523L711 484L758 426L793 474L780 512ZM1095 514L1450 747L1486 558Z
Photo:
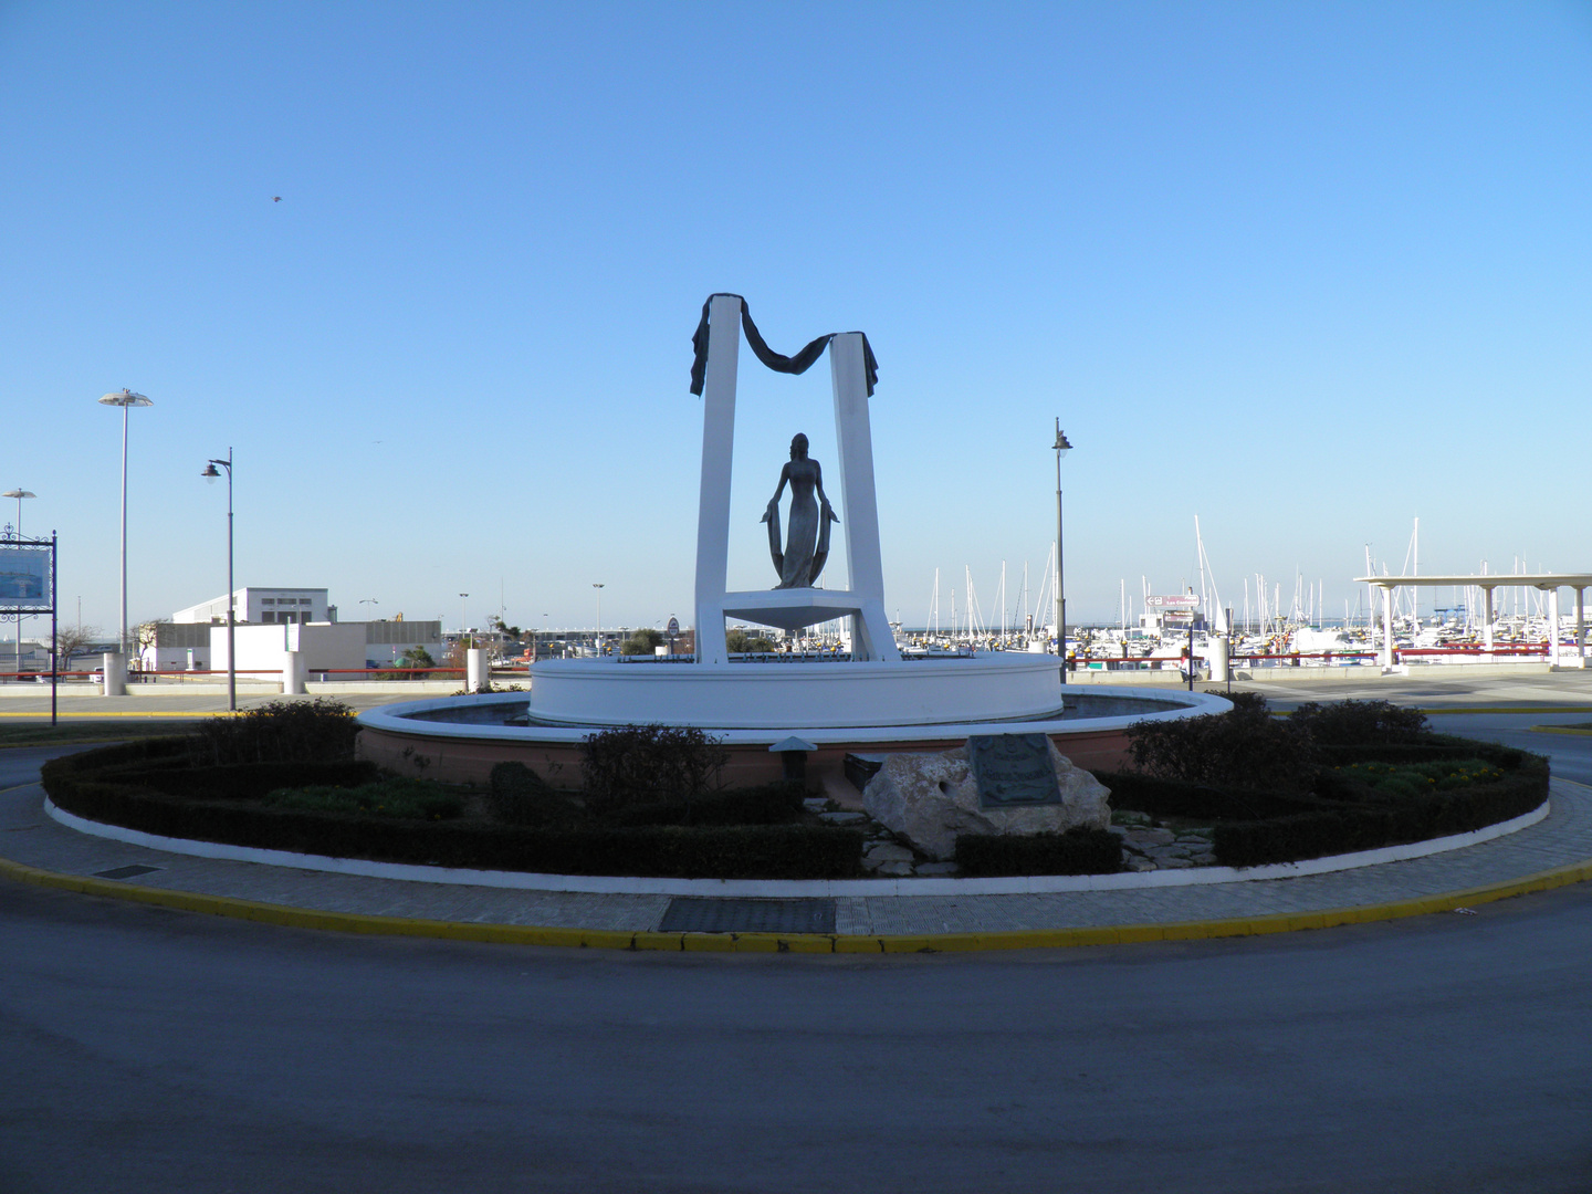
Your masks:
M43 783L65 812L164 837L462 869L678 879L1247 868L1476 831L1546 799L1546 759L1430 734L1418 715L1390 708L1340 702L1272 718L1250 700L1227 715L1145 723L1134 739L1140 769L1098 774L1111 790L1110 833L965 834L954 866L914 858L861 814L821 810L799 783L715 791L710 739L648 737L648 728L626 728L627 737L610 743L616 753L595 753L594 783L578 794L548 788L521 764L500 764L486 788L430 782L419 766L382 775L339 756L352 747L352 718L331 707L306 713L304 704L275 720L252 713L189 737L54 759Z

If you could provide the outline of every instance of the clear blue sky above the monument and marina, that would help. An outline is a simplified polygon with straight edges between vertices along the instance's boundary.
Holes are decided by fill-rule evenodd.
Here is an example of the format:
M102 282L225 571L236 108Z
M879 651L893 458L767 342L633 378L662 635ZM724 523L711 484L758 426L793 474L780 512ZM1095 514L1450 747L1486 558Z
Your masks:
M102 627L124 385L134 621L224 591L228 446L239 584L689 621L715 290L869 334L909 624L1040 572L1057 416L1075 621L1196 581L1196 514L1227 603L1342 613L1415 517L1422 572L1592 568L1587 3L0 3L0 487ZM834 431L828 368L740 379L756 587Z

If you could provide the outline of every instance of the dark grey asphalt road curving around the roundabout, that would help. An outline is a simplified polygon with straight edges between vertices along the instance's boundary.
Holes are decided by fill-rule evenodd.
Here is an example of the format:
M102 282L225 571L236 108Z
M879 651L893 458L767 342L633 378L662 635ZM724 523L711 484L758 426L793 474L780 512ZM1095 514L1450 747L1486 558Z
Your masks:
M1492 716L1465 721L1587 764ZM0 884L0 957L5 1194L1592 1189L1592 885L858 958L365 939Z

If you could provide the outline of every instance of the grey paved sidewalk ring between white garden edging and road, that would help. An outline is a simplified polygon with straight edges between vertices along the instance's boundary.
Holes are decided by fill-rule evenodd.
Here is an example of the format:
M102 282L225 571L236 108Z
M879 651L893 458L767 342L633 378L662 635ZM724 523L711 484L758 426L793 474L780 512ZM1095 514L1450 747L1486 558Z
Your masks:
M60 753L59 750L56 753ZM193 911L315 928L632 949L890 952L1240 936L1481 904L1592 877L1592 788L1555 778L1551 812L1517 833L1407 861L1333 874L1111 892L723 899L829 915L810 931L665 930L667 893L503 890L223 861L75 833L43 790L0 791L0 874ZM769 923L753 919L745 923ZM794 922L793 922L794 923Z

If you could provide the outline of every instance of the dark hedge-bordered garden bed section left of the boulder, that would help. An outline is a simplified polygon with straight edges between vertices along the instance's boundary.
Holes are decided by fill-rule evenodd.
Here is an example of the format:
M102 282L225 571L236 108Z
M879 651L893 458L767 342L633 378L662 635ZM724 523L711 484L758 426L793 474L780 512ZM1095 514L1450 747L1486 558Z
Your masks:
M287 734L264 716L234 737L212 731L102 747L48 763L43 785L60 809L86 820L295 853L586 876L863 872L863 834L821 823L799 785L689 799L632 785L605 799L579 799L546 788L519 764L503 764L490 788L454 788L419 774L380 775L350 758L315 758L342 748L333 732L339 716L322 710L322 720L333 720L328 732L299 715L299 732ZM310 758L237 761L250 753Z

